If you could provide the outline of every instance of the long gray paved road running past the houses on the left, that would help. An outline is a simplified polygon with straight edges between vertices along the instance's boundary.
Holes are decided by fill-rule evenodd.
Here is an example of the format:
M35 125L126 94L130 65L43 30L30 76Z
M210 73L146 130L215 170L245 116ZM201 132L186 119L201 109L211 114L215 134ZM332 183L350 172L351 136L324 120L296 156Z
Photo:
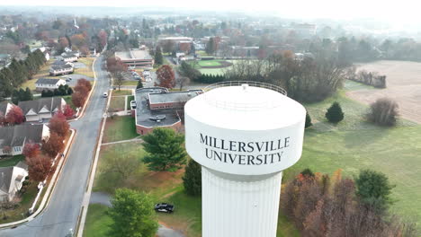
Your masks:
M49 205L30 223L15 229L1 230L0 236L64 237L70 228L75 229L105 108L106 100L102 95L109 88L109 79L101 64L102 56L94 64L97 82L85 116L71 123L71 127L76 128L75 143L70 149Z

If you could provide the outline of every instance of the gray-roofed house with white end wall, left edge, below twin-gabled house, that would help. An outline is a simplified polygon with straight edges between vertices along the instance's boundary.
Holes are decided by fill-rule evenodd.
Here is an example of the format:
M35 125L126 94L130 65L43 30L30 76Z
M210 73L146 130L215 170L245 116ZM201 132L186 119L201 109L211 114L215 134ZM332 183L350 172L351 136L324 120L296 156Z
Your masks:
M0 127L0 155L22 154L25 144L42 144L48 139L49 127L45 124Z

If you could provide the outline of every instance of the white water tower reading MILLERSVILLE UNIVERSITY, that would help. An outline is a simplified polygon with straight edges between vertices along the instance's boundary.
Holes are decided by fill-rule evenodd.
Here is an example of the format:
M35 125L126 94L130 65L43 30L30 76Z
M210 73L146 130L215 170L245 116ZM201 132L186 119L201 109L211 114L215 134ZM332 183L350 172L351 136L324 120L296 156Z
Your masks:
M277 86L212 84L184 107L202 165L203 237L274 237L282 171L300 159L306 110Z

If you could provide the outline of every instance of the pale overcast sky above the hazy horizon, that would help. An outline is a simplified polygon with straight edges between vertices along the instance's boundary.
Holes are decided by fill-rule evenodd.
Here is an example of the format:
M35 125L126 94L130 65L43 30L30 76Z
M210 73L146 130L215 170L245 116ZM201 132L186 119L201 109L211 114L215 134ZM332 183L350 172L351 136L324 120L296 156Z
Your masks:
M0 0L3 5L73 5L73 6L158 6L198 10L235 10L246 12L275 12L297 18L375 18L388 22L421 22L417 0Z

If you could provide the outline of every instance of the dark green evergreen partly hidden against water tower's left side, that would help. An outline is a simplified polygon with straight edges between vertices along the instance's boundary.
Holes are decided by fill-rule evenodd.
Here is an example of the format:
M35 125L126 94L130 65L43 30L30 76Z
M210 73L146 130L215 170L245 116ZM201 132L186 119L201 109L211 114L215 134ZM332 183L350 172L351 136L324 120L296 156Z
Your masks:
M202 166L193 159L185 167L183 185L188 195L202 195Z

